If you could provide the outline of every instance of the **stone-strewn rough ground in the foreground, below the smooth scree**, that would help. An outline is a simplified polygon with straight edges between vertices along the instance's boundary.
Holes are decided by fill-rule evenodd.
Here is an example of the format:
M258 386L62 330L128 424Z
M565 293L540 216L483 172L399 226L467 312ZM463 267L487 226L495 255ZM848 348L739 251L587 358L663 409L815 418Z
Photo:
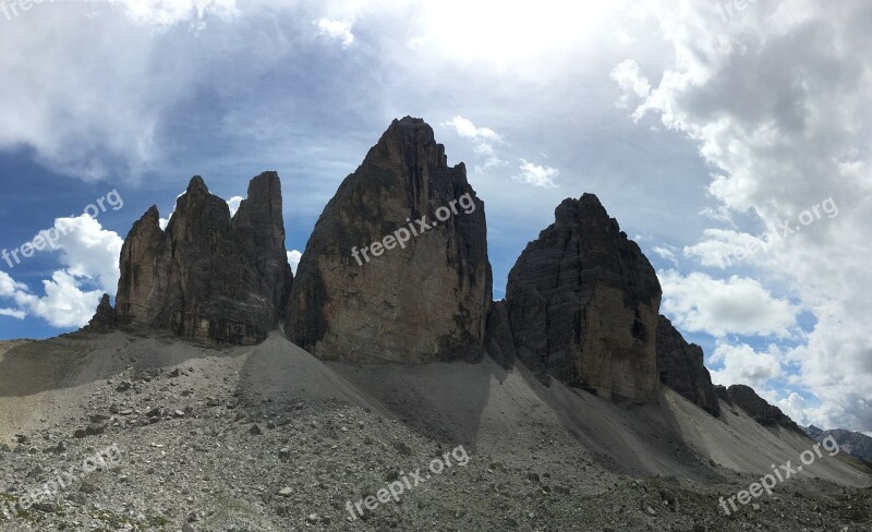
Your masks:
M731 518L718 496L747 487L631 479L543 435L506 456L456 450L395 419L338 401L252 400L221 364L134 371L95 383L78 415L0 447L0 501L36 491L101 449L120 458L0 517L0 529L51 530L872 530L872 493L791 480ZM211 375L203 373L213 372ZM199 373L199 375L197 375ZM207 394L190 386L213 380ZM256 401L256 402L255 402ZM75 409L73 409L75 410ZM552 445L553 444L554 448ZM425 471L449 455L450 468ZM469 457L467 466L459 458ZM569 456L570 458L565 458ZM423 482L352 520L347 503L422 470ZM410 485L413 484L410 480Z

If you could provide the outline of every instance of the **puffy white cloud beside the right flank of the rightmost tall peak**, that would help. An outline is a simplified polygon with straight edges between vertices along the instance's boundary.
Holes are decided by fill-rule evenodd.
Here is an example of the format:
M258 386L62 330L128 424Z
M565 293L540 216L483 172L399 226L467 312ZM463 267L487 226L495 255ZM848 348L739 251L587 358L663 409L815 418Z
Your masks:
M763 288L759 281L732 276L713 279L705 274L682 276L669 269L657 274L663 287L661 311L680 329L726 335L789 337L798 309Z

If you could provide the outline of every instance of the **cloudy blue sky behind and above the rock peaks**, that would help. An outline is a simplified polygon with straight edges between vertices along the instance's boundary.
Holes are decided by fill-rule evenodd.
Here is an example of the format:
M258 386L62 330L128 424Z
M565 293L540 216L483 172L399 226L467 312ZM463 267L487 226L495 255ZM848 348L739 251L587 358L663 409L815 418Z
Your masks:
M411 114L486 204L496 297L556 205L596 193L717 383L872 431L868 1L3 5L2 338L86 323L130 225L194 174L232 208L278 170L298 262Z

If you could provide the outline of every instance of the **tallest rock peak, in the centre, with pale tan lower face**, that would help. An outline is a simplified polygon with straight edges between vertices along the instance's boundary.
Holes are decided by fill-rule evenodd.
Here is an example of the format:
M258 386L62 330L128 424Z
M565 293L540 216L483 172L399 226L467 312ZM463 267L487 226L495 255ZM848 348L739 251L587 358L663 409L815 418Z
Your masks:
M458 205L463 196L470 208ZM352 247L408 230L422 216L429 225L452 202L457 214L402 247L370 251L370 262L360 251L360 263L352 256ZM288 338L319 358L362 363L480 355L492 301L486 232L465 167L447 165L423 120L395 120L315 225L294 280Z

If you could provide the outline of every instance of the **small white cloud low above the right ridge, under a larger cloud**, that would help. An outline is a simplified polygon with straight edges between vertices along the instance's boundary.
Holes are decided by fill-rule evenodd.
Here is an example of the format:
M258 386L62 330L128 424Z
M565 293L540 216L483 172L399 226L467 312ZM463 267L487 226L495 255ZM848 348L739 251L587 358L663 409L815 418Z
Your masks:
M722 363L724 367L711 370L712 382L724 386L744 384L760 390L770 379L782 376L780 354L775 346L761 353L747 343L731 344L718 340L710 360Z

